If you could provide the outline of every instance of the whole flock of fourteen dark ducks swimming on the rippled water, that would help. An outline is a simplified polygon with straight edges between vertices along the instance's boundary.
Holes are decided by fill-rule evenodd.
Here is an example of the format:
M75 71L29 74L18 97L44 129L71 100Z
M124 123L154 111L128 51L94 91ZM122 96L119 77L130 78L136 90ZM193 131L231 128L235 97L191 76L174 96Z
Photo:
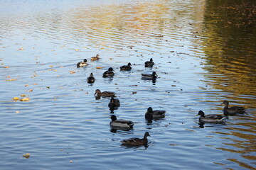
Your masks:
M91 61L99 60L99 55L96 55L96 57L91 57ZM78 62L77 67L85 67L87 66L87 60L83 60L83 62ZM132 64L129 62L127 65L124 65L120 67L120 71L129 71L132 69ZM145 62L145 67L153 67L154 62L151 58L149 61ZM106 72L103 73L102 77L113 77L114 76L114 70L112 67L110 67ZM149 79L149 80L155 80L157 78L156 72L152 72L152 74L142 74L142 79ZM93 84L95 82L95 77L93 77L93 74L90 74L90 77L87 77L87 83ZM100 91L100 89L95 90L95 98L100 97L107 97L110 98L110 103L108 104L110 111L114 111L114 109L117 109L120 106L120 101L118 98L115 97L115 93L112 91ZM245 113L245 108L240 106L233 106L229 107L228 101L223 101L225 107L223 108L223 115L216 115L216 114L210 114L206 115L203 111L198 111L198 115L200 117L198 118L199 124L204 123L223 123L225 118L228 118L229 115L236 115L239 113ZM113 113L113 112L111 112ZM153 111L153 108L149 107L147 108L147 111L145 113L146 120L157 120L159 118L165 117L166 111ZM122 130L129 130L132 129L134 126L134 122L131 120L124 120L124 119L117 119L115 115L111 115L111 121L110 126L114 129L122 129ZM147 145L148 140L146 137L150 136L149 132L145 132L144 137L142 139L134 137L129 138L127 140L122 140L122 145Z

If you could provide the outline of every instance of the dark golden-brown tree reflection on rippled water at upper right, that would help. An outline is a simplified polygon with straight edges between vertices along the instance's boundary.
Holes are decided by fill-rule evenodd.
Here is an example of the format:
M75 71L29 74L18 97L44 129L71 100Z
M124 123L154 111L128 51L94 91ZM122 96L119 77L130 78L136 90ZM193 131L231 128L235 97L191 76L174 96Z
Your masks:
M203 51L207 83L230 92L235 101L242 95L256 96L255 2L208 1L205 13ZM220 74L222 76L220 76ZM216 76L214 76L216 75ZM256 107L254 99L242 103Z

